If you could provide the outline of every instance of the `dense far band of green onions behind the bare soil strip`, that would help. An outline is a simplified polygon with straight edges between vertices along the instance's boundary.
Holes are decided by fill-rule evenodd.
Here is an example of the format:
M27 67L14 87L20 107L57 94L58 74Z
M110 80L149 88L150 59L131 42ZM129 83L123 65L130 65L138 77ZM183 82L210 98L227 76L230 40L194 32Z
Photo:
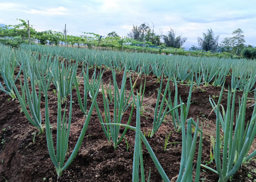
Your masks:
M22 50L40 52L40 54L61 55L63 58L72 61L86 62L89 67L107 68L114 66L118 71L127 67L127 70L136 71L138 74L154 74L158 80L163 74L166 77L173 77L180 82L191 82L192 75L199 84L205 86L213 84L222 86L227 75L231 76L232 92L238 89L243 91L248 80L252 80L251 86L255 83L256 74L255 60L245 59L224 59L224 58L195 58L192 56L166 56L155 54L128 53L118 51L96 51L87 49L74 49L64 47L47 47L38 45L22 45ZM197 76L199 75L199 76ZM173 79L174 79L173 78ZM254 88L249 88L250 92Z

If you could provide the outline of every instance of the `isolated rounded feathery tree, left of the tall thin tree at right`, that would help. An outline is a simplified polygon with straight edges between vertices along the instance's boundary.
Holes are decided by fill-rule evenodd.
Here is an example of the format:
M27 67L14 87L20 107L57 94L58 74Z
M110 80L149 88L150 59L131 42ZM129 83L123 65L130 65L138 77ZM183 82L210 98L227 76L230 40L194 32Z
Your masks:
M215 52L218 47L219 35L214 38L214 33L212 29L208 29L207 33L203 33L203 38L198 37L197 41L199 47L205 51Z

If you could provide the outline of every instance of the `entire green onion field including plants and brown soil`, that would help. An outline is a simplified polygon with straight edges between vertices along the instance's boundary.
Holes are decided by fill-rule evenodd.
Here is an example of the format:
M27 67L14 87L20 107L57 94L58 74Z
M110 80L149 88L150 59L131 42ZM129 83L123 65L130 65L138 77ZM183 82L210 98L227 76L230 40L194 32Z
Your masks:
M0 181L256 181L256 61L0 44Z

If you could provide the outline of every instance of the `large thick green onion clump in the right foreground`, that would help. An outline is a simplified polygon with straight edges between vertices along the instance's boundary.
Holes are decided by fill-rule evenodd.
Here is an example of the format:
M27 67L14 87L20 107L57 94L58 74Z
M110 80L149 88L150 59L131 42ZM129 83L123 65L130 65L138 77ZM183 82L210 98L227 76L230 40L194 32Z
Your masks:
M211 141L214 143L214 159L216 163L217 170L212 169L209 166L201 164L219 175L219 182L226 182L232 175L234 175L237 170L240 168L242 162L254 157L256 155L256 150L247 156L248 151L252 145L253 139L256 135L256 106L254 106L253 114L251 121L245 126L245 115L246 115L246 99L248 96L248 90L245 89L242 96L242 101L239 103L239 112L236 114L236 126L233 131L233 122L234 122L234 102L236 92L234 90L232 104L231 104L231 92L228 91L227 98L227 110L225 112L222 107L222 116L220 112L221 99L223 88L219 96L218 104L215 106L216 110L216 137L215 141L213 136L211 136ZM230 109L231 108L231 109ZM223 123L221 119L223 118ZM222 153L222 162L221 162L221 149L220 149L220 123L224 131L224 144L223 144L223 153Z

